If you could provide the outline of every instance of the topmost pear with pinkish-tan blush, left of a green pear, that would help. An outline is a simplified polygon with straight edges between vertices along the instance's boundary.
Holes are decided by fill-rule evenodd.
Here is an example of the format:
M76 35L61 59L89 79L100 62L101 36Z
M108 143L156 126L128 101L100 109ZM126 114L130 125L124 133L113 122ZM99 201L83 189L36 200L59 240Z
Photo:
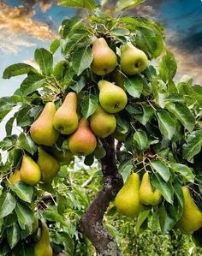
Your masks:
M92 72L98 75L111 73L116 68L116 54L105 39L95 39L92 44Z

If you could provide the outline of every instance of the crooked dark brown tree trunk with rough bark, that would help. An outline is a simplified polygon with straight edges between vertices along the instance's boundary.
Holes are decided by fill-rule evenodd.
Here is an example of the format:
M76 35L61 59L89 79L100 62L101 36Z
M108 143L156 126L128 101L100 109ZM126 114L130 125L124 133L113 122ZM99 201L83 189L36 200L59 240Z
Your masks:
M102 172L104 175L103 189L93 199L92 204L80 219L80 232L92 242L97 256L121 256L118 247L110 231L103 225L104 212L115 199L116 194L122 188L122 176L116 166L115 141L107 138L103 141L106 155L101 159Z

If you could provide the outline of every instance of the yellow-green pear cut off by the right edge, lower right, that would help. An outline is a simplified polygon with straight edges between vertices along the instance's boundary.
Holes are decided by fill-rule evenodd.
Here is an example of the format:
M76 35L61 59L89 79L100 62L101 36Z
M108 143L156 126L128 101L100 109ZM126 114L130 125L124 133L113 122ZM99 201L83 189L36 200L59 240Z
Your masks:
M187 187L182 187L184 195L184 209L180 220L176 224L181 233L192 234L202 226L202 212L194 203Z

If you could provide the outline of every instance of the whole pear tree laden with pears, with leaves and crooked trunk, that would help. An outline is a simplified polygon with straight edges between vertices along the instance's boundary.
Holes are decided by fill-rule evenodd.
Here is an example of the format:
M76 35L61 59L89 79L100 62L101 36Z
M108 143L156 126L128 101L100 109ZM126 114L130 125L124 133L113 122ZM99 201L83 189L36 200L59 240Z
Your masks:
M89 242L97 255L123 255L106 216L135 220L136 234L152 220L153 231L202 246L202 89L175 78L158 22L127 15L143 2L109 11L107 1L60 0L83 12L36 49L39 68L4 70L25 79L0 98L1 255L92 255ZM90 166L83 184L80 162Z

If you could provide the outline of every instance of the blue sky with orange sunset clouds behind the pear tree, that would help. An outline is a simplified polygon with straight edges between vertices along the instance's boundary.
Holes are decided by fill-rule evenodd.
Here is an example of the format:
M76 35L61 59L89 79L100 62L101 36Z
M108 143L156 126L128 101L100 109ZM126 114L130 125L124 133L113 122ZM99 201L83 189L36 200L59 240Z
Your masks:
M12 95L24 78L3 80L4 68L13 63L34 65L34 50L49 47L62 20L74 14L75 9L57 6L56 0L0 0L0 97ZM179 65L177 77L188 74L202 84L201 0L147 0L129 15L160 21Z

